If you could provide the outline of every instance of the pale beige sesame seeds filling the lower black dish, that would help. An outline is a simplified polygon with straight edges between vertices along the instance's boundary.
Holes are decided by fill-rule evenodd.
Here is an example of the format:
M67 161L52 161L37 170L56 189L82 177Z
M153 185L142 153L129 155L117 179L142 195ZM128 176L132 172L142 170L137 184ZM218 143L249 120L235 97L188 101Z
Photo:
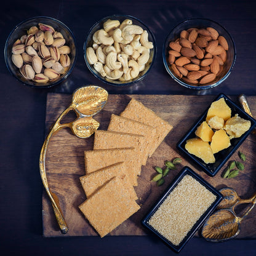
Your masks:
M185 175L148 223L178 246L216 196L191 175Z

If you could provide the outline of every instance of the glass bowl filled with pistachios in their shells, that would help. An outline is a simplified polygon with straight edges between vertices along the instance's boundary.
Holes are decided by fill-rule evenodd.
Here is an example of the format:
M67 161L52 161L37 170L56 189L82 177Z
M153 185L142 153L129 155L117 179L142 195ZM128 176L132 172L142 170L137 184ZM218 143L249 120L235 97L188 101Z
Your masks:
M76 40L72 31L55 18L33 17L9 34L4 58L18 81L51 87L71 74L77 58Z

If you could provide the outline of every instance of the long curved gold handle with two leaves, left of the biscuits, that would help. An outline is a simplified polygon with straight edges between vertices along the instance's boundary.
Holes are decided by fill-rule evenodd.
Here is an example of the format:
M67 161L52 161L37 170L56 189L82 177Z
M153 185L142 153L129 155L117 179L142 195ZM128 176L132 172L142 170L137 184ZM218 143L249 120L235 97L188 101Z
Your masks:
M42 145L39 160L42 183L46 188L46 192L50 198L52 207L54 208L55 217L57 218L58 225L60 226L60 231L63 234L68 232L68 226L66 225L65 219L60 209L57 195L50 191L46 177L45 161L47 146L49 145L52 135L65 127L70 127L73 134L79 138L88 138L90 135L94 134L100 123L94 120L92 116L102 110L107 100L108 92L98 86L84 86L75 90L73 93L71 105L68 106L68 108L66 108L62 114L60 114L54 126L50 130L50 133L47 135L44 144ZM74 111L77 118L73 122L60 124L63 116L65 116L69 111Z

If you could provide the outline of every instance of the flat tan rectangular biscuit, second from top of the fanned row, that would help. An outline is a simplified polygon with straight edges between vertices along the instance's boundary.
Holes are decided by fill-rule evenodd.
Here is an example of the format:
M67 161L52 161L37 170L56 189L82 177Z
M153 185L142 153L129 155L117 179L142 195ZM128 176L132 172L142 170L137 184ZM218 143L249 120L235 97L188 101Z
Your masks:
M156 135L156 129L152 126L148 126L142 122L112 114L110 124L108 125L108 130L112 130L114 132L126 132L128 134L140 134L145 136L147 149L145 158L148 158L150 155L153 138Z

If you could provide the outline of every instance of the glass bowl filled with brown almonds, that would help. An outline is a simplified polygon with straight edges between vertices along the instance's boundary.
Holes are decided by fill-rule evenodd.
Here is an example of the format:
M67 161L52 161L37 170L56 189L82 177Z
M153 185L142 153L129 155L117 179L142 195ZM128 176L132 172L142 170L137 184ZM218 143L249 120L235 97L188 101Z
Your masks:
M191 18L170 31L162 57L167 72L179 84L190 89L210 89L230 75L236 47L222 25Z

